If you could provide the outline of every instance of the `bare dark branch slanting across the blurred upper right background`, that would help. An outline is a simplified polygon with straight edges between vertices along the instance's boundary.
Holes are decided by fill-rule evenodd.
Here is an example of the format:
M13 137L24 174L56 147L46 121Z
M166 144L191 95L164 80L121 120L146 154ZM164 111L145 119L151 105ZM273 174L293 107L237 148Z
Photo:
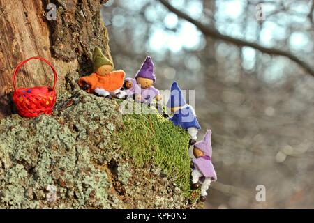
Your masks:
M209 36L211 38L216 38L218 40L223 40L227 43L232 43L233 45L237 45L238 47L252 47L252 48L257 49L258 51L265 53L265 54L270 54L270 55L274 55L274 56L285 56L285 57L289 58L290 60L294 61L295 63L299 64L299 66L304 68L304 70L306 70L306 72L308 72L310 75L312 75L314 77L314 69L311 68L311 66L308 63L302 61L301 59L299 59L299 57L291 54L290 52L285 52L281 49L263 47L262 45L259 45L259 44L254 43L254 42L249 42L249 41L242 40L239 38L233 38L232 36L227 36L225 34L220 33L218 30L216 30L214 28L211 28L211 27L208 27L208 26L202 24L202 22L194 20L192 17L190 17L186 13L182 12L181 10L178 10L177 8L174 8L174 6L172 6L170 3L168 3L167 0L159 0L159 1L165 7L167 7L172 13L178 15L182 19L187 20L188 22L197 26L197 28L200 29L200 31L202 31L202 33L204 33L205 36Z

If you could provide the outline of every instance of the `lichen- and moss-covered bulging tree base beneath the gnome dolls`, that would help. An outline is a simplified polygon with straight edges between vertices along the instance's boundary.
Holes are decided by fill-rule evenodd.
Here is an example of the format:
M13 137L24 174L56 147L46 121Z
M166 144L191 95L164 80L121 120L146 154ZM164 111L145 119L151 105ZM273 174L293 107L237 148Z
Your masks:
M122 115L121 100L80 91L77 76L52 116L0 121L0 208L195 208L186 132Z

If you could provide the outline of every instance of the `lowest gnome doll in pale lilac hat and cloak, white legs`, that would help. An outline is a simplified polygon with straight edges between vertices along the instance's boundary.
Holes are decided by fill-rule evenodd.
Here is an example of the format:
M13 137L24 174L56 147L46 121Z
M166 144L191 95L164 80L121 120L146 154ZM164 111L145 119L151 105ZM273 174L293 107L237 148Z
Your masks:
M192 160L192 188L196 190L201 187L200 201L204 202L207 197L207 190L211 181L216 181L217 176L211 163L211 130L207 130L204 139L198 141L193 148L195 158Z

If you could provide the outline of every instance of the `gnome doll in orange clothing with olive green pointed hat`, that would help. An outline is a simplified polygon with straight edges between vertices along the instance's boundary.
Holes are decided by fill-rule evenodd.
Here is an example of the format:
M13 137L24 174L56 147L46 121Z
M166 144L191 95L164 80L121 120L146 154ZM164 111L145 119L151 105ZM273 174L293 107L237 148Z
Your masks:
M87 89L89 93L96 93L103 97L110 95L117 98L126 98L126 93L121 91L124 84L125 72L112 71L114 66L110 59L103 55L99 47L95 47L93 54L94 73L81 77L78 84Z

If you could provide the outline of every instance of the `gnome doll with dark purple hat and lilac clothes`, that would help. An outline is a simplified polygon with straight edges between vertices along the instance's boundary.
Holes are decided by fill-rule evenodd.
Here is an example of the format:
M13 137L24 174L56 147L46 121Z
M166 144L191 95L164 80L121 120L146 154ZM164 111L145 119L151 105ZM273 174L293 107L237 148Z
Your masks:
M135 78L126 78L124 86L128 89L126 91L128 96L133 95L137 102L151 104L154 98L156 101L161 100L158 89L153 86L155 82L154 63L151 57L147 56Z

